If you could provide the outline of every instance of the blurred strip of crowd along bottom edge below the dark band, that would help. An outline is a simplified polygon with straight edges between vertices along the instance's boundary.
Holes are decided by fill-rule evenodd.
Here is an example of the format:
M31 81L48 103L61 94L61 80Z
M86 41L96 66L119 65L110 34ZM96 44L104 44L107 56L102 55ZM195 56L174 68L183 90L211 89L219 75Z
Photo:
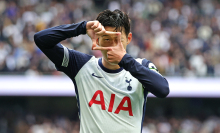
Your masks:
M80 122L62 116L14 115L13 119L0 118L1 133L79 133ZM12 125L8 125L8 124ZM145 118L142 133L219 133L220 118Z

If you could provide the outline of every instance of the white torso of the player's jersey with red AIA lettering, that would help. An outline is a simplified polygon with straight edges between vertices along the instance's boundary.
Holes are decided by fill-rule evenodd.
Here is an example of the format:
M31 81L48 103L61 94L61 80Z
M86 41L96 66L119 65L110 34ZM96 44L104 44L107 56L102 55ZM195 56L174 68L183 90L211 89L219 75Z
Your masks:
M146 98L142 84L124 69L103 71L98 60L92 57L75 77L80 133L140 133Z

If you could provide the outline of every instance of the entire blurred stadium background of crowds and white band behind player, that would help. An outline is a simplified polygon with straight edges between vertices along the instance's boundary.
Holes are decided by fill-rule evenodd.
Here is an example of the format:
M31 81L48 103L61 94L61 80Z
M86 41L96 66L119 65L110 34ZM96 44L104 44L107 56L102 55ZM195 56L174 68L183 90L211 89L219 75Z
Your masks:
M33 35L104 9L129 13L127 52L170 84L169 98L149 96L143 133L220 133L219 0L0 0L0 133L79 132L74 86ZM86 35L62 44L101 56Z

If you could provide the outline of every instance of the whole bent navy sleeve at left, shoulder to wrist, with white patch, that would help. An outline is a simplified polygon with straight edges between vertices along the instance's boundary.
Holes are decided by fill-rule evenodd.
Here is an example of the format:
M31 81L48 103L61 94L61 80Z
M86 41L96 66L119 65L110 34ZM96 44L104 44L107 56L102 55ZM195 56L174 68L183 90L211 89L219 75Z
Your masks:
M74 78L81 67L92 57L70 50L60 42L70 37L86 34L86 21L77 24L60 25L42 30L34 35L40 50L55 64L57 70Z

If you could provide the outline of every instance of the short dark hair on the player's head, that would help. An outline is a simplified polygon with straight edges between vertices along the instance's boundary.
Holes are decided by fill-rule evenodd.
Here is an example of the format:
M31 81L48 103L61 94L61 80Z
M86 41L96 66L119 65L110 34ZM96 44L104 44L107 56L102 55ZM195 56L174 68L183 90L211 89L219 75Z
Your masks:
M130 19L125 12L118 9L114 11L104 10L99 13L96 20L98 20L104 27L115 27L115 30L119 30L121 32L122 27L124 27L126 36L130 33Z

